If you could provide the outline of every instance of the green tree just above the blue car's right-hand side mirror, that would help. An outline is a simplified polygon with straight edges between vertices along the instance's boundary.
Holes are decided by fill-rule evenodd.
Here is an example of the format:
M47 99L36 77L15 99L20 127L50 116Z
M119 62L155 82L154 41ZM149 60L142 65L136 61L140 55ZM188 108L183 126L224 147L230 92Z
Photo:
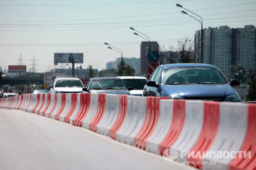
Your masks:
M245 69L242 65L231 65L229 67L230 69L230 77L237 79L240 82L245 82L246 77L245 77ZM242 70L242 71L240 71Z

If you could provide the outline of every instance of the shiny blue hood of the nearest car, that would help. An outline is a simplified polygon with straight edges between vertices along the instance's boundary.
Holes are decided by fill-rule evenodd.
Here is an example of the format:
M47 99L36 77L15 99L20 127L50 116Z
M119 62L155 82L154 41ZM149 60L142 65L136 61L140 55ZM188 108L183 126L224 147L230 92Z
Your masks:
M183 98L226 97L236 93L229 84L180 84L162 87L168 94Z

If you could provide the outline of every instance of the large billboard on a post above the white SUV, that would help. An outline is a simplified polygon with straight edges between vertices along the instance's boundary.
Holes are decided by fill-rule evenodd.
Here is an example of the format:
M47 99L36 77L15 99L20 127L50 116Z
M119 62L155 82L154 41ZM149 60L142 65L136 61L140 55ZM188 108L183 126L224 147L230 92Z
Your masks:
M83 53L54 53L54 64L58 63L83 63Z

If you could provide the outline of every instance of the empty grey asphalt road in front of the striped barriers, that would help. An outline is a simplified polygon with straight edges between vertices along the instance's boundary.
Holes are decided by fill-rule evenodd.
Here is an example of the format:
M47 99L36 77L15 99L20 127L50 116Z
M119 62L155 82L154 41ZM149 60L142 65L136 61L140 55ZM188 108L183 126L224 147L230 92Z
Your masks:
M194 169L84 128L0 109L0 170Z

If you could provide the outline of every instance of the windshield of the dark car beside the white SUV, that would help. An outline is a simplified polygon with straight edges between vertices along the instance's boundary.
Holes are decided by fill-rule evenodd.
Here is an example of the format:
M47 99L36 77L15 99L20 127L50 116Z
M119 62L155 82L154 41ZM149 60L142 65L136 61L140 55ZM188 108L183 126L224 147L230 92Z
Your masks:
M127 89L121 79L98 79L92 80L91 90L97 89Z

